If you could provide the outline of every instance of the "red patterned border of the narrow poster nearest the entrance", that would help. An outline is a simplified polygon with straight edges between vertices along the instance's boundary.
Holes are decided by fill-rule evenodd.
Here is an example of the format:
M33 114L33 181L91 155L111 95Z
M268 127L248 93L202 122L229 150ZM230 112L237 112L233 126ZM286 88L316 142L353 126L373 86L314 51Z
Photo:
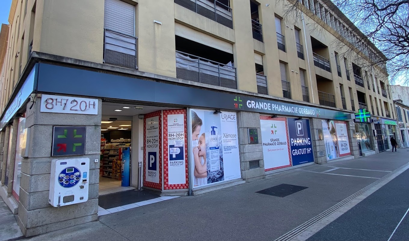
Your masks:
M152 118L152 117L159 117L159 183L154 183L151 181L145 181L145 173L146 173L146 119L147 118ZM161 111L155 111L152 113L145 114L144 116L144 186L149 187L149 188L156 188L159 190L162 190L162 112Z

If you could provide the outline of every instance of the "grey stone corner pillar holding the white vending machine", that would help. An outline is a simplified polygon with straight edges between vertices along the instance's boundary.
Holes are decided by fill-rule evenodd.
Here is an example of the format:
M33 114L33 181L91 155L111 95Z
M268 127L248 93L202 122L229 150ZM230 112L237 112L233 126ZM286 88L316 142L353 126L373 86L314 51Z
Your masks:
M26 128L28 158L22 160L18 225L26 237L97 220L101 100L98 115L42 113L40 97L30 110L27 104ZM85 126L85 155L51 157L53 126ZM88 201L52 207L48 203L51 161L55 158L90 158ZM94 159L98 159L97 163Z

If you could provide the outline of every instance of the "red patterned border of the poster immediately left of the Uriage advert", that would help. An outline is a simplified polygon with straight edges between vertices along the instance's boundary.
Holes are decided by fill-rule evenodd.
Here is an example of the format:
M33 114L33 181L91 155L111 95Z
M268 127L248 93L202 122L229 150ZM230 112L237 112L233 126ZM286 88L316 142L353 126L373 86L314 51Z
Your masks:
M168 115L183 114L184 119L184 161L186 182L184 184L169 184L169 166L168 166ZM163 111L163 189L188 189L189 188L189 167L188 167L188 150L187 150L187 111L181 110L167 110Z

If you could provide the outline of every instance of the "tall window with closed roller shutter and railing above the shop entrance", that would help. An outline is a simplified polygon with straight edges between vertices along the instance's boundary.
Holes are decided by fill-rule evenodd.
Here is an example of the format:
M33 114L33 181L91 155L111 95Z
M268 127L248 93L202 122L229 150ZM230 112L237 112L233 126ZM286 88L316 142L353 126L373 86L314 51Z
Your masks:
M105 0L104 63L137 69L135 6Z

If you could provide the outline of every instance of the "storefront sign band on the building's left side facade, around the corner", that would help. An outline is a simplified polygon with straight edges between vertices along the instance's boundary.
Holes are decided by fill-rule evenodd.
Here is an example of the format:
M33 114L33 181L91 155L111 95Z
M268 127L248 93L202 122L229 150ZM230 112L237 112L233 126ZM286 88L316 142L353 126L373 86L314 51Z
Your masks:
M18 109L25 103L27 98L30 96L31 92L33 92L34 88L34 77L36 75L36 68L34 67L29 75L27 76L24 84L22 84L20 90L18 91L16 97L14 97L13 101L11 102L10 106L4 112L4 115L1 119L0 130L9 122L11 117L16 114Z

